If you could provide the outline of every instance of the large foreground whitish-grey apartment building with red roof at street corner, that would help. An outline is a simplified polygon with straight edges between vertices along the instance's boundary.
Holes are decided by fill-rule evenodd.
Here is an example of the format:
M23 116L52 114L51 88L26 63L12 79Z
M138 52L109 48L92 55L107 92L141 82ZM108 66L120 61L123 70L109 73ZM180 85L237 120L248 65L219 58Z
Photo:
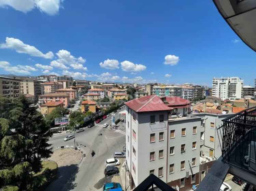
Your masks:
M189 101L165 98L150 95L126 102L126 168L132 189L153 173L173 188L190 190L221 155L216 127L227 115L187 115Z

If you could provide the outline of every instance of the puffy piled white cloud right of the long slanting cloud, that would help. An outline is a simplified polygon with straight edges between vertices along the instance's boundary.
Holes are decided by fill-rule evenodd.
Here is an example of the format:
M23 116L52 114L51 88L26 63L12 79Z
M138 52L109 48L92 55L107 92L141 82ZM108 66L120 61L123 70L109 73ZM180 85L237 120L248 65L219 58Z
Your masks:
M68 69L66 65L69 65L75 70L84 70L87 71L87 67L84 67L83 64L86 62L81 56L76 58L67 50L59 50L56 55L58 56L57 60L51 62L51 66L61 69Z

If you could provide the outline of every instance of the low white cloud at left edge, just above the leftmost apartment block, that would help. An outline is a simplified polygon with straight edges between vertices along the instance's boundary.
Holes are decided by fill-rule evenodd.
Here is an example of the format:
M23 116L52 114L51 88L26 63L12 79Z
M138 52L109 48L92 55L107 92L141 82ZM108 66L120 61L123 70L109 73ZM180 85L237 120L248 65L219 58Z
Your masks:
M31 66L23 66L23 65L12 66L9 62L6 62L6 61L0 61L0 68L4 69L7 72L11 72L13 74L15 73L30 74L30 71L37 70Z

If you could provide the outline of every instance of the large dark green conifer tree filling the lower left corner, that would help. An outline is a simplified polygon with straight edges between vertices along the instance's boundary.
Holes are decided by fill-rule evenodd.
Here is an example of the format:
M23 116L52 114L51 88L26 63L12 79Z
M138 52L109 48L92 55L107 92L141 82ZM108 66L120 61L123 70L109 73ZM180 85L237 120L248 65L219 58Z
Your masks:
M40 172L41 159L51 154L51 135L43 116L24 96L0 96L0 190L33 191L47 178Z

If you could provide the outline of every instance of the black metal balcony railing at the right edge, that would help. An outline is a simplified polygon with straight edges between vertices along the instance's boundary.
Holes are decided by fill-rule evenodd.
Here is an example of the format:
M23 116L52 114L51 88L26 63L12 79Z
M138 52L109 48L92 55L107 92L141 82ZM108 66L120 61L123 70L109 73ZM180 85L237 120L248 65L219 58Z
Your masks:
M256 173L256 107L245 109L223 121L218 128L225 162ZM218 133L219 134L219 133Z

